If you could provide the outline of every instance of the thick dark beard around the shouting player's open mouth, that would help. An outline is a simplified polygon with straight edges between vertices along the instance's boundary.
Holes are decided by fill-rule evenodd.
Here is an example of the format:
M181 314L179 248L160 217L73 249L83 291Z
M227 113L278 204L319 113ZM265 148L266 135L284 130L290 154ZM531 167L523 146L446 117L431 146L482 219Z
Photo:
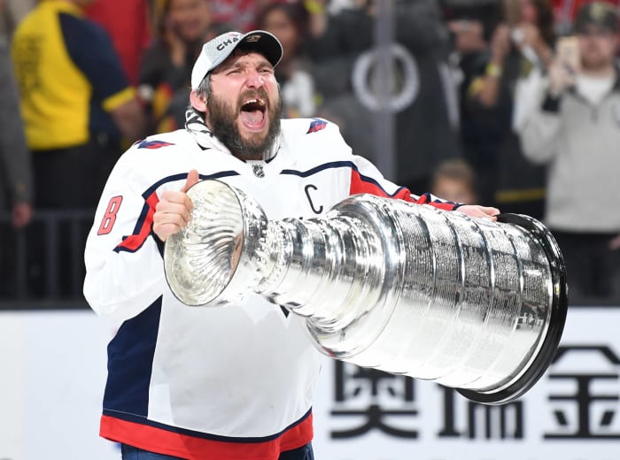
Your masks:
M253 135L250 139L244 139L236 126L236 118L242 101L248 98L260 97L267 103L269 114L269 129L261 138L261 134ZM230 152L242 160L262 159L265 152L270 151L280 135L280 119L283 114L283 101L278 89L275 103L267 96L267 91L260 88L258 91L246 91L239 96L235 107L229 103L211 95L206 100L206 108L209 114L209 124L213 135L223 143Z

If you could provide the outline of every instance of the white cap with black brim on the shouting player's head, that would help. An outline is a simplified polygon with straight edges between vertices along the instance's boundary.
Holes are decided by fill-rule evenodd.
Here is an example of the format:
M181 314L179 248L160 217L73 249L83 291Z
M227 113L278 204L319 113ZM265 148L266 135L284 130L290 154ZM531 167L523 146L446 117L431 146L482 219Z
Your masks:
M237 49L257 51L274 66L280 62L283 53L280 41L265 30L252 30L247 34L227 32L218 35L202 46L191 70L191 88L198 88L205 75L221 65Z

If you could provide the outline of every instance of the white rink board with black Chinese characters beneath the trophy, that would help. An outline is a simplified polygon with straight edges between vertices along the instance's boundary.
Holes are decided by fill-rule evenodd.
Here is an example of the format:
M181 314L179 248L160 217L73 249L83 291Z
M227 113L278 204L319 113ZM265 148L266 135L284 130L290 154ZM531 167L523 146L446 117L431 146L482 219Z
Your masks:
M315 450L330 460L611 460L620 452L620 309L573 309L546 374L522 398L455 389L326 358Z

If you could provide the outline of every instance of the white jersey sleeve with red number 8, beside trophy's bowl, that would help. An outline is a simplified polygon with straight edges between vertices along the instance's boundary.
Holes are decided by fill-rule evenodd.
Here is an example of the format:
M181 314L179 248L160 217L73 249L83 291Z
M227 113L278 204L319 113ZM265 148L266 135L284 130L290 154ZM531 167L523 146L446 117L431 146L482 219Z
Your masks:
M133 149L112 170L84 252L84 295L97 314L118 323L163 294L163 258L151 234L152 215L164 188L182 187L174 181L151 183Z

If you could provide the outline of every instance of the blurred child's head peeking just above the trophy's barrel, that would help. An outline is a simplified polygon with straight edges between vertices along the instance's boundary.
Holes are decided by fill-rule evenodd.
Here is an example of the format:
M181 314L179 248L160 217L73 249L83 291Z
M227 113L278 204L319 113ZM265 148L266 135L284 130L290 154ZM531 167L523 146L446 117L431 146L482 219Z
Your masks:
M477 203L476 172L463 158L447 159L433 173L430 193L453 203Z

